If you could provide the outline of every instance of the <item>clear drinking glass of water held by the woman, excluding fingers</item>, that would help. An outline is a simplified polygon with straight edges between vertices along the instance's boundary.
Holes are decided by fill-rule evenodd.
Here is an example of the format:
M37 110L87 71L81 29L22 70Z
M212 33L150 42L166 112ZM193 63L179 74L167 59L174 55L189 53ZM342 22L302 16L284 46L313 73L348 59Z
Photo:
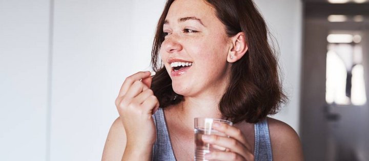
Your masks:
M223 123L232 125L231 121L212 119L212 118L195 118L195 160L206 160L204 155L211 151L225 151L226 148L204 143L202 135L218 135L222 137L229 137L226 134L214 130L214 123Z

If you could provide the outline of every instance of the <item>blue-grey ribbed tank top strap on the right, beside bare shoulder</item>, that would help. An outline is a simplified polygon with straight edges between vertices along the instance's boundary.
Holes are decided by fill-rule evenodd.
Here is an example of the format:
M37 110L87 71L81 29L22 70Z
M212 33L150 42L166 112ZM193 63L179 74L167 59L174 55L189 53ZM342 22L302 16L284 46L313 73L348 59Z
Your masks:
M270 141L268 120L265 118L262 121L255 123L255 161L273 160L272 144Z

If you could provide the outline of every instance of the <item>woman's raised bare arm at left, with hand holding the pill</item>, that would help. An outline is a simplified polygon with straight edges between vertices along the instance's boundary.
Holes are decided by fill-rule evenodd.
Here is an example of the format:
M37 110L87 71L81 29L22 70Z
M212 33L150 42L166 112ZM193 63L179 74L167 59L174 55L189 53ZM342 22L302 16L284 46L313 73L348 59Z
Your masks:
M156 139L152 114L159 106L151 80L150 72L126 78L115 100L119 118L111 126L102 160L151 160Z

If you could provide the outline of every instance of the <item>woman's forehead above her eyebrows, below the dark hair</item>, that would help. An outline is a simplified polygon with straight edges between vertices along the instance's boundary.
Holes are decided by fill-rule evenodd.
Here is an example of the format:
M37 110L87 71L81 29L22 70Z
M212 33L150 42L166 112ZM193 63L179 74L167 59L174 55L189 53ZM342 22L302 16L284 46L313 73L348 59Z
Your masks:
M204 22L217 19L215 10L204 0L175 0L169 8L166 20L176 21L181 17L193 16Z

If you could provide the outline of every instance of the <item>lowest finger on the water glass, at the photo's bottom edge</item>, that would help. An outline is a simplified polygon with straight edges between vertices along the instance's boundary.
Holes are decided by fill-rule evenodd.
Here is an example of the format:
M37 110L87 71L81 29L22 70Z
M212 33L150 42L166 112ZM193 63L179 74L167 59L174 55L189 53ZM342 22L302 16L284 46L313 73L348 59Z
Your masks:
M235 152L226 152L226 151L212 151L210 153L205 154L205 158L207 160L247 160L243 156L235 153Z

